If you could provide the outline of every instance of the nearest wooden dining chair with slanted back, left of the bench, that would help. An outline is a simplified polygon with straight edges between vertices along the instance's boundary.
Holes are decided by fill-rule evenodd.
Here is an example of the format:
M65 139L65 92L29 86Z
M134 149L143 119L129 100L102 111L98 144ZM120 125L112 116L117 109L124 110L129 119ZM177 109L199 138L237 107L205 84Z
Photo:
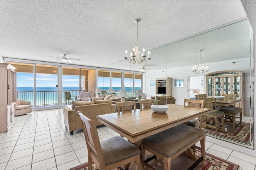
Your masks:
M99 140L94 121L78 111L81 118L88 150L88 170L92 170L92 161L99 170L112 170L134 162L134 169L140 170L140 149L120 136Z

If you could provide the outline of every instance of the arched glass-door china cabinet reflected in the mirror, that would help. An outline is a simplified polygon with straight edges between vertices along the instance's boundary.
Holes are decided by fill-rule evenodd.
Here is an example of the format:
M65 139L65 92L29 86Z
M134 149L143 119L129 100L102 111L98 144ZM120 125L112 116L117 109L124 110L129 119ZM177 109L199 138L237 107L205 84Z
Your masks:
M241 102L237 103L236 106L244 107L244 72L227 70L211 72L205 76L206 95L208 97L236 94L236 98L241 99Z

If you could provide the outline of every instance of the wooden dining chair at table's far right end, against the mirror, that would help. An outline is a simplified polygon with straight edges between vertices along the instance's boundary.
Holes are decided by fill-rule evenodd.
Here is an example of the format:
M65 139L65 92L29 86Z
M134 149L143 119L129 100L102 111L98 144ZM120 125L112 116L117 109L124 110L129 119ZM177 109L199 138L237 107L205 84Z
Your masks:
M204 100L194 100L194 99L184 99L184 106L192 106L192 107L204 107ZM193 127L200 127L202 124L202 117L198 117L198 119L192 119L186 123L186 125ZM200 120L200 121L199 121Z

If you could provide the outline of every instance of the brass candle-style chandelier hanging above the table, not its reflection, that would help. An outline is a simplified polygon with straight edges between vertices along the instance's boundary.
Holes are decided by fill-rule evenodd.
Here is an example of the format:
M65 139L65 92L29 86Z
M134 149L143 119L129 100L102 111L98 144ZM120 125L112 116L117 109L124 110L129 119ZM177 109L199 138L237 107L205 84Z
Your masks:
M135 45L135 48L133 48L133 52L130 53L130 56L127 57L127 51L125 51L125 61L131 64L135 64L136 62L139 64L144 64L150 61L149 54L150 52L148 51L148 58L146 59L145 55L145 49L142 49L142 52L139 51L139 46L138 46L138 22L140 22L140 19L134 20L134 22L137 23L137 43Z

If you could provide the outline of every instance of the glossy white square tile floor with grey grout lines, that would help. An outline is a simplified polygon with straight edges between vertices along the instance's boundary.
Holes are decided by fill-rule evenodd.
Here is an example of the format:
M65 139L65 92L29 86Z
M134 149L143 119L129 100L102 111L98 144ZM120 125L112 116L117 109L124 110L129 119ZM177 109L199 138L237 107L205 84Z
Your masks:
M97 129L101 141L119 135L106 126ZM256 170L256 157L216 145L208 137L206 140L206 152L239 164L240 170ZM69 135L62 109L15 117L10 131L0 133L0 170L68 170L87 159L84 133Z

